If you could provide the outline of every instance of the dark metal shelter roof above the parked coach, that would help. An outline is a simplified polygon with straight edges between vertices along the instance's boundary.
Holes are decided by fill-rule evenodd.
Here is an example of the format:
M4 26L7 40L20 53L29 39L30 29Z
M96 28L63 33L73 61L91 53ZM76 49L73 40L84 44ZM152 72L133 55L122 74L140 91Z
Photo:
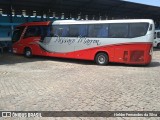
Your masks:
M11 14L11 9L16 14L22 14L26 10L28 15L37 11L37 15L43 13L56 16L64 13L65 17L77 17L81 14L89 18L102 16L109 18L160 18L160 7L137 4L121 0L0 0L0 8L4 13Z

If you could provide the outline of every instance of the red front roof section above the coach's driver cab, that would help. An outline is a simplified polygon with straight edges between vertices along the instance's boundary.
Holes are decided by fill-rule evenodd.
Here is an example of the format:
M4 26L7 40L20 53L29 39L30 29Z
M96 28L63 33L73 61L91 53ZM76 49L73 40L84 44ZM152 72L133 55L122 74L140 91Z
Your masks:
M40 25L49 25L51 24L51 21L42 21L42 22L27 22L24 24L19 25L20 26L40 26Z

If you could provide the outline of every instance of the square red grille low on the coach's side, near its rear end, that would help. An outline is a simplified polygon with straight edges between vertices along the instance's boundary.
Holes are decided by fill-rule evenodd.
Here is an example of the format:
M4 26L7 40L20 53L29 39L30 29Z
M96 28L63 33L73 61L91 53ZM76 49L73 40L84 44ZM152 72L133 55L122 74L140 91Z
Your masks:
M144 62L144 51L131 51L130 62Z

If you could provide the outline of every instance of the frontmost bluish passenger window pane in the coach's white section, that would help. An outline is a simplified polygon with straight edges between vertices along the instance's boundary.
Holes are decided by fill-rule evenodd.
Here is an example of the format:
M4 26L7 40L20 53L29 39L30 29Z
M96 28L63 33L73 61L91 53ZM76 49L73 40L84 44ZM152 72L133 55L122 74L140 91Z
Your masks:
M69 36L69 26L68 25L54 26L54 36L68 37Z

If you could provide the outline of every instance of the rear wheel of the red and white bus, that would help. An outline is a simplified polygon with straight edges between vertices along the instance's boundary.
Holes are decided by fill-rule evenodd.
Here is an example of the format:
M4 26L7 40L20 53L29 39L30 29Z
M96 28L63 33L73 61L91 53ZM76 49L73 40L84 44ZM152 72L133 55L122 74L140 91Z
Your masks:
M95 61L98 65L107 65L109 63L109 58L106 53L98 53L95 57Z

